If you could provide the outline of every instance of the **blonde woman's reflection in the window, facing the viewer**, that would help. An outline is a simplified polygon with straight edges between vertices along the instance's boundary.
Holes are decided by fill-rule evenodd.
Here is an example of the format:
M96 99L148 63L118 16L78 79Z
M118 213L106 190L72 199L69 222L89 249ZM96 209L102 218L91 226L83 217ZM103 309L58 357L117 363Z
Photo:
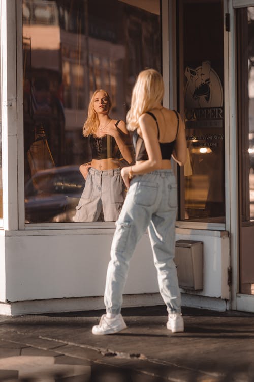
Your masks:
M88 107L83 135L89 137L92 161L80 166L86 180L76 207L75 222L95 222L103 210L105 221L115 221L124 200L120 160L132 162L123 121L109 117L111 101L105 90L94 92Z

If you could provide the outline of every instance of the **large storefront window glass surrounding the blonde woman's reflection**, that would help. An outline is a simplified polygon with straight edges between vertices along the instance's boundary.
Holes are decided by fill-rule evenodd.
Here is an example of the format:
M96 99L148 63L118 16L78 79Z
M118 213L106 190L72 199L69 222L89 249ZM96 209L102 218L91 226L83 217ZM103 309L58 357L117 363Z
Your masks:
M90 98L107 91L110 118L125 121L137 74L161 71L160 0L22 4L25 222L74 222L85 186L79 166L92 159L90 138L82 137ZM130 137L122 137L132 153ZM121 155L124 166L130 160ZM109 187L109 203L117 187ZM115 220L105 219L101 200L97 208L81 221Z

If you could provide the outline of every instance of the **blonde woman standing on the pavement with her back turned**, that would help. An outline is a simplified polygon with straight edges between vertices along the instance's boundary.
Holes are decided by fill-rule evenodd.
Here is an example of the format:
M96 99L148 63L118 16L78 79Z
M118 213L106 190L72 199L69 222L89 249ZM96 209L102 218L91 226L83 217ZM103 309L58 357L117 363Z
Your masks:
M142 71L127 115L128 129L134 136L136 163L121 170L128 193L111 247L104 294L106 314L92 328L96 335L126 328L120 314L123 288L132 254L147 227L160 292L169 314L167 328L173 333L184 330L174 263L177 185L170 158L172 155L182 166L187 146L183 122L178 113L162 107L163 95L161 74L153 69Z

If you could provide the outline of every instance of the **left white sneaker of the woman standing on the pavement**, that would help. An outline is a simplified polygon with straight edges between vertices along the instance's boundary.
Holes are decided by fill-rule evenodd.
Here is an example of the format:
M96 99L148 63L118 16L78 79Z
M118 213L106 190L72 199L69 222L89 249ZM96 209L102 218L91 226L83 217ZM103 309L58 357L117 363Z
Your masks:
M106 317L106 314L103 314L99 325L94 325L92 327L92 334L104 335L120 332L123 329L126 329L127 325L122 318L121 313L117 314L114 318Z

